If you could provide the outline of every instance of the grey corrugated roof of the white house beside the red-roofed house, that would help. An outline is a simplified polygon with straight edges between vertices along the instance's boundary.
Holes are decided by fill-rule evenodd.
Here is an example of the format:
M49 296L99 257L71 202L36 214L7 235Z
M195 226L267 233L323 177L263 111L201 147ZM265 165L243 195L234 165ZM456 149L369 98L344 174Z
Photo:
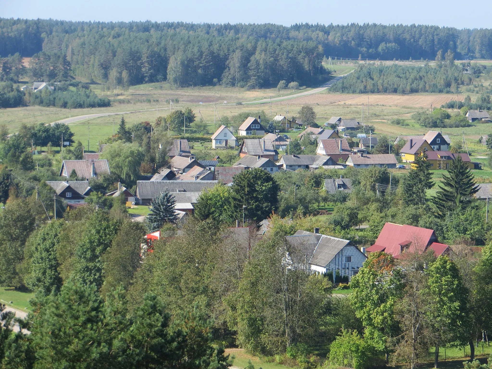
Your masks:
M307 231L297 231L286 236L287 242L307 255L309 264L326 267L335 255L350 241Z

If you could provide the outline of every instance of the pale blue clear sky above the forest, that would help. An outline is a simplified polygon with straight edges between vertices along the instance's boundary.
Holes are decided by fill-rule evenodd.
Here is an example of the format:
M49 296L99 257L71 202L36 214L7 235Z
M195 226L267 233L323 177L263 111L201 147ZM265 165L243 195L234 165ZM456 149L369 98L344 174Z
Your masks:
M491 0L0 0L3 18L70 21L381 23L461 29L492 28L491 13Z

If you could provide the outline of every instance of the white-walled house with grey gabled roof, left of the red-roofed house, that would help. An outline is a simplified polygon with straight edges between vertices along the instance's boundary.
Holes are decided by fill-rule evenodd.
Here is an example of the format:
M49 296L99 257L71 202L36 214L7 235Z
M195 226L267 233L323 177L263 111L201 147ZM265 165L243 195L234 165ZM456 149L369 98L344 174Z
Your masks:
M300 262L307 262L311 271L320 274L333 273L350 279L367 259L350 241L320 234L319 228L314 228L314 232L299 230L285 240Z

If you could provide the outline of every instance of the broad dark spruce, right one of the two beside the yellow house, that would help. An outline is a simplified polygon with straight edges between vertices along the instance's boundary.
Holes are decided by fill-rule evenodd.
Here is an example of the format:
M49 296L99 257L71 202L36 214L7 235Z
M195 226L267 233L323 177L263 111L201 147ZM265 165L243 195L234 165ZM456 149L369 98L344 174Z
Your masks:
M437 214L440 217L446 215L461 206L470 203L471 196L478 191L478 185L475 184L473 173L468 164L461 160L458 155L449 165L449 176L442 175L442 184L439 184L440 190L432 199Z

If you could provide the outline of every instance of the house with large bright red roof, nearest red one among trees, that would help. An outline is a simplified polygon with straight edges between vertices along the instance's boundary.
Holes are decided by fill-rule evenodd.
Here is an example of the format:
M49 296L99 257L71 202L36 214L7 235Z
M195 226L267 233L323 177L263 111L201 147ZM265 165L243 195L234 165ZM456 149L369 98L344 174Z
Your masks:
M404 252L424 253L428 250L434 256L446 254L449 246L440 244L432 229L385 223L374 245L369 246L366 252L384 251L400 258Z

